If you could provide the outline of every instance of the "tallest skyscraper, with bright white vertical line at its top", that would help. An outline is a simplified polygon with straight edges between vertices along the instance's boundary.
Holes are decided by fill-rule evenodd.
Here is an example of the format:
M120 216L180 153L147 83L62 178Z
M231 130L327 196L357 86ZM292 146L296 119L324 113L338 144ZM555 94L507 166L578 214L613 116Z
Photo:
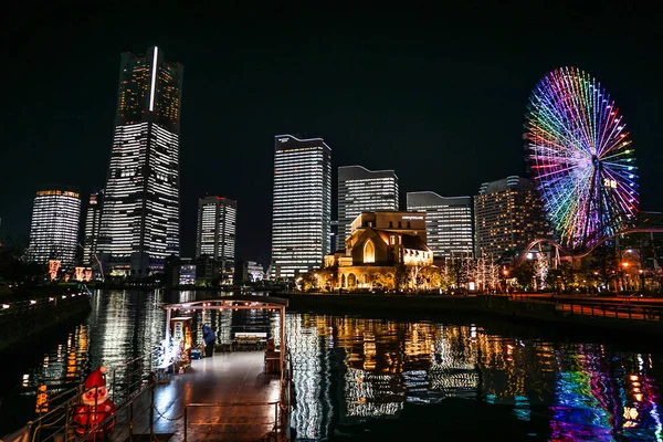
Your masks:
M147 276L179 255L182 75L157 46L122 54L98 241L112 274Z

